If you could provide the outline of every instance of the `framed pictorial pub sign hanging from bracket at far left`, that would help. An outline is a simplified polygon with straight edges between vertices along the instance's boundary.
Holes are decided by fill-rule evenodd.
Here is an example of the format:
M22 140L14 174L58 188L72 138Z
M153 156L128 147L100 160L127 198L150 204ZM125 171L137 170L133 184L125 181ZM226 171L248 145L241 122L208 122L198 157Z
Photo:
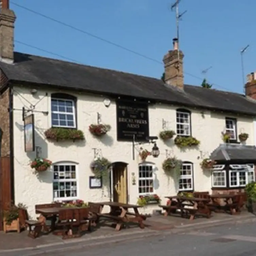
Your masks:
M35 150L34 114L24 117L25 152Z

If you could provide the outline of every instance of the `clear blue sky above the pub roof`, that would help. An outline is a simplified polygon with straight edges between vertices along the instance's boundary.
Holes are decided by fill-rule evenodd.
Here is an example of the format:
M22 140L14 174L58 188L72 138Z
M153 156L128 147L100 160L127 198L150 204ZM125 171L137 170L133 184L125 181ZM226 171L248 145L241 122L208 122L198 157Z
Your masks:
M108 41L162 62L176 35L174 0L13 0L15 40L86 65L160 78L163 65L24 10L25 6ZM181 0L180 49L185 54L185 83L207 79L219 90L243 93L245 75L256 71L255 0ZM50 58L50 53L15 42L15 50ZM58 58L63 59L63 58ZM190 74L190 75L189 75ZM191 76L192 75L192 76ZM197 78L196 78L197 77ZM246 78L245 78L246 80Z

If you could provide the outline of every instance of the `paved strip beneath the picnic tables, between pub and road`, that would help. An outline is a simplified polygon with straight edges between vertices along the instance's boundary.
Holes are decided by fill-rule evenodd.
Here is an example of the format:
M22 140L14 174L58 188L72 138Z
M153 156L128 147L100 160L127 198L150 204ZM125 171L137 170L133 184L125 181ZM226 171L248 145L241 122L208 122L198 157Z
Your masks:
M146 228L130 226L116 232L107 224L99 225L91 233L85 234L79 239L62 240L59 236L44 235L37 239L27 236L27 231L17 233L0 233L0 256L28 256L28 255L52 255L49 253L63 252L63 250L74 250L77 248L94 248L108 244L119 244L122 242L136 241L140 239L161 236L163 234L182 234L184 232L198 229L206 229L230 224L256 223L255 215L243 211L239 215L228 215L224 213L213 213L212 218L197 218L193 221L181 217L156 215L145 221ZM48 253L48 254L47 254ZM63 255L63 254L62 254ZM79 254L78 254L79 255Z

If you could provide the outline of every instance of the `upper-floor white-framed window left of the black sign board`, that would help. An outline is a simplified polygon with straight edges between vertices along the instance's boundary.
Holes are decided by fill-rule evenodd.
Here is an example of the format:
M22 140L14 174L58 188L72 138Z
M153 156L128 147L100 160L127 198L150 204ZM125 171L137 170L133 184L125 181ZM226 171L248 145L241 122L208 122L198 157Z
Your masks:
M51 98L51 124L52 127L76 128L74 100Z

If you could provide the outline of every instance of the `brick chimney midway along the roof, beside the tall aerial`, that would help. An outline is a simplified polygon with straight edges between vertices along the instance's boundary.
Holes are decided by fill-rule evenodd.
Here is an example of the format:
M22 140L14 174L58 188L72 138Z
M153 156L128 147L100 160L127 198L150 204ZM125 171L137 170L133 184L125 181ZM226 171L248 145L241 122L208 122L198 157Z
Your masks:
M173 39L173 50L168 51L163 57L165 83L184 89L183 58L184 54L179 51L177 38ZM179 54L178 54L179 51ZM179 58L178 58L179 55Z

